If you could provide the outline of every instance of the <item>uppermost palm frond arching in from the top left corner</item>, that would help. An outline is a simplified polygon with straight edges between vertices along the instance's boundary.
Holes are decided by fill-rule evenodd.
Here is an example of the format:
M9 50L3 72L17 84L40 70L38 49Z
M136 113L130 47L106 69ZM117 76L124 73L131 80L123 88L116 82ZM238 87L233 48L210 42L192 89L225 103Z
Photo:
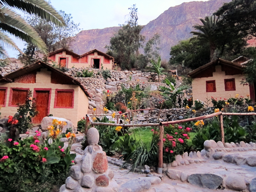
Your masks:
M45 0L0 0L0 3L20 11L37 15L58 26L65 26L61 15Z

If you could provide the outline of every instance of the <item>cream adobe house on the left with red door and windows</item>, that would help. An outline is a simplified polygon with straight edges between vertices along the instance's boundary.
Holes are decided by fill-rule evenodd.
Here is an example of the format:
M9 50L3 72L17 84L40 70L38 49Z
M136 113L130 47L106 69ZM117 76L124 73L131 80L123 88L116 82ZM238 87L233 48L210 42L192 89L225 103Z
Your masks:
M28 90L32 90L39 112L33 123L52 114L69 119L74 125L87 114L88 97L86 88L76 79L37 61L17 71L0 76L1 117L14 115L17 104L24 104Z

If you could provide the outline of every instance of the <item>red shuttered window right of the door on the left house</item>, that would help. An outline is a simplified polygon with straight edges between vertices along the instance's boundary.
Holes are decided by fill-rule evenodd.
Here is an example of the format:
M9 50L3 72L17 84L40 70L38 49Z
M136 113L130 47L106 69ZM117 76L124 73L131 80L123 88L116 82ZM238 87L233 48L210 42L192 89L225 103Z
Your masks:
M74 107L74 90L56 89L54 108L73 108Z

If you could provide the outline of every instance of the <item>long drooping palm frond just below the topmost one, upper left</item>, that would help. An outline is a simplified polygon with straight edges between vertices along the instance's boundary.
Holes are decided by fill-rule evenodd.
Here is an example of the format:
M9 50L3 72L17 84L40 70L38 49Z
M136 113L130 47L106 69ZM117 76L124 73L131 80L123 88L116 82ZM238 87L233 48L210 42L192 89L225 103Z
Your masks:
M5 14L4 22L0 23L0 29L38 47L44 54L48 53L44 41L19 14L6 7L2 7L0 10Z

